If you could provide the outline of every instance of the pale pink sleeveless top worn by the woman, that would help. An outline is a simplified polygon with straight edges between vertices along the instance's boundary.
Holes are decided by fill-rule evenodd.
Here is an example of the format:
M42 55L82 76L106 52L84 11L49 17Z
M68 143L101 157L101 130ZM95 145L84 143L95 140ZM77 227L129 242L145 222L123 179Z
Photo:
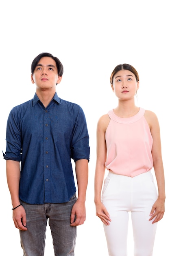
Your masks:
M144 113L145 110L139 108L133 117L121 118L113 110L108 112L110 122L105 134L107 170L134 177L152 169L153 138Z

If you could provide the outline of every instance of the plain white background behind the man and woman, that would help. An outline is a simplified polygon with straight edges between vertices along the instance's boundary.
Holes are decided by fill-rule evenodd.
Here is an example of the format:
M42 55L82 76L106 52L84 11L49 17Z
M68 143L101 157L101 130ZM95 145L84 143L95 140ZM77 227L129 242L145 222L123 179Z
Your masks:
M159 222L154 256L169 256L169 103L170 36L167 0L6 0L0 7L0 149L5 151L9 111L33 98L31 63L41 52L57 56L64 66L57 85L62 99L83 108L90 136L91 155L87 189L87 219L78 227L76 256L106 256L102 222L94 206L96 124L116 107L109 83L113 68L133 65L139 73L137 105L152 110L161 128L162 156L166 177L166 213ZM19 232L12 220L5 160L0 158L0 254L22 256ZM153 172L154 173L154 172ZM54 255L49 227L45 256ZM129 254L133 236L129 223Z

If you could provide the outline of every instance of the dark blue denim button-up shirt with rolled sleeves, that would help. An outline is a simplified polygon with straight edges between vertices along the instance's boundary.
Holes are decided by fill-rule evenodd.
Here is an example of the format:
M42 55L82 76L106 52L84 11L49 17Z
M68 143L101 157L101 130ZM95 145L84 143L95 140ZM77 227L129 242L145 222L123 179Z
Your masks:
M4 159L21 161L19 197L29 204L68 202L76 192L71 159L89 160L84 112L54 94L45 108L37 94L14 107Z

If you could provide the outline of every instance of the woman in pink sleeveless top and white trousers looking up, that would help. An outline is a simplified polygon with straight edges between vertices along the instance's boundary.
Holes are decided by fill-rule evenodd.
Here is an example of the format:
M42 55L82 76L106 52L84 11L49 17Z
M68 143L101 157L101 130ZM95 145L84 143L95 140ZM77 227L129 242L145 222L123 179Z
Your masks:
M116 66L110 82L118 106L98 121L96 215L104 224L109 256L127 256L129 212L134 255L152 256L165 202L159 122L155 113L135 105L139 75L134 67ZM103 184L106 169L109 172Z

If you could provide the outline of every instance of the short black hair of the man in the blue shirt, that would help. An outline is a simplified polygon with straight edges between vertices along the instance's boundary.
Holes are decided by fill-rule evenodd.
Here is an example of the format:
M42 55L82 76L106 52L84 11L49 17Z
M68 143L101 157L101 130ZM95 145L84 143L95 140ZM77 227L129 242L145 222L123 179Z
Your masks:
M39 63L39 60L42 57L50 57L52 58L57 66L57 71L58 71L58 76L62 76L63 75L63 64L61 63L61 61L59 61L59 59L57 57L54 57L52 54L48 53L48 52L42 52L40 53L37 57L35 57L35 59L33 60L32 64L31 64L31 73L34 73L34 70L37 66L37 64Z

